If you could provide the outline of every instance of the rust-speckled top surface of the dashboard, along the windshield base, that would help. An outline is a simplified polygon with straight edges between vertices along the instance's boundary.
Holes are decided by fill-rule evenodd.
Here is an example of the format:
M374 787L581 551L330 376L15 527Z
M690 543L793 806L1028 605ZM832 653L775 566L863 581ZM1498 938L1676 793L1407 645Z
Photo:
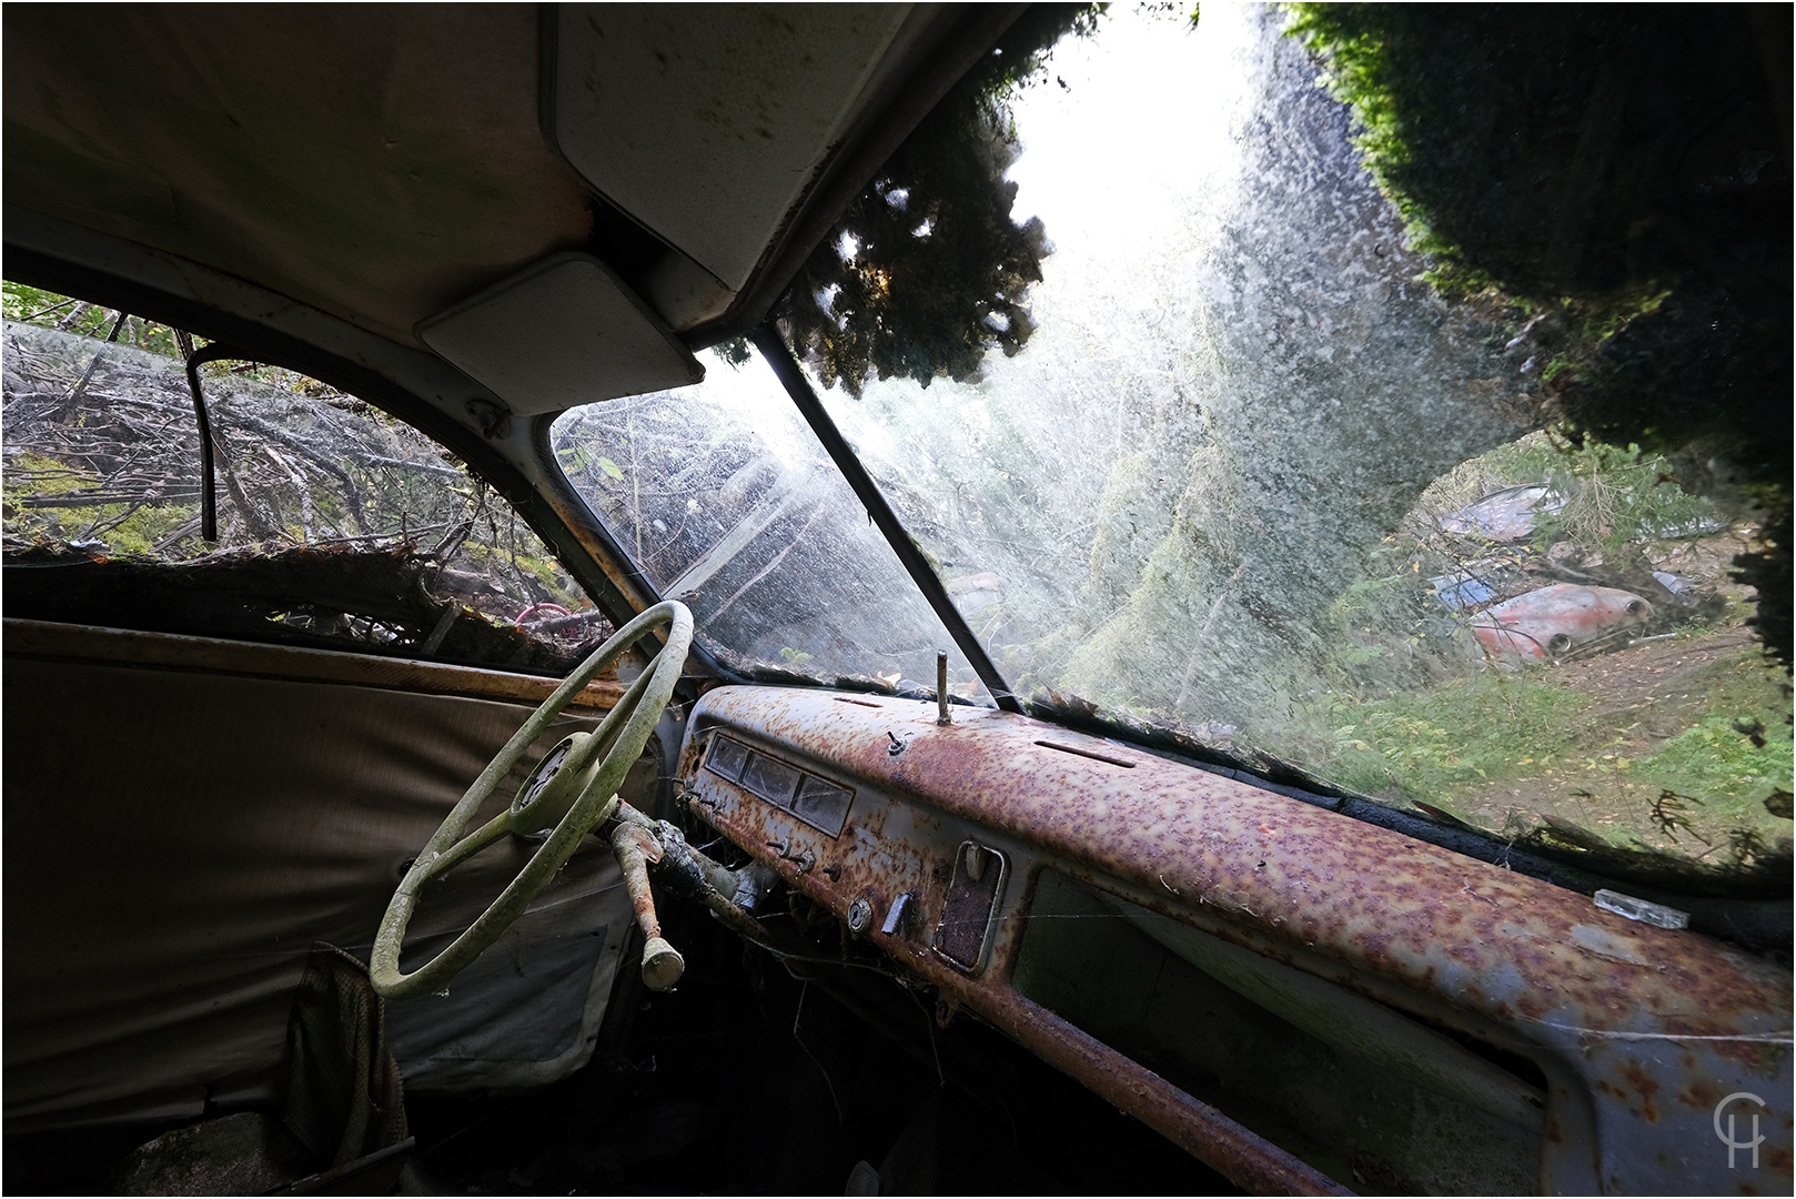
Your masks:
M1789 978L1721 942L1031 717L955 708L938 726L909 699L726 687L697 705L691 737L718 726L1119 879L1264 953L1318 955L1530 1039L1791 1026ZM850 827L871 809L857 798Z

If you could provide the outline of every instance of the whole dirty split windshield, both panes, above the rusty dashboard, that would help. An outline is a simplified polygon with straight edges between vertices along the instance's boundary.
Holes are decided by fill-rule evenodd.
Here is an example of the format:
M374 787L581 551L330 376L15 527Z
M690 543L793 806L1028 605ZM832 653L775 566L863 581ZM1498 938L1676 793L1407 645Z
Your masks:
M1767 859L1789 708L1728 570L1756 528L1552 431L1530 325L1419 280L1282 20L1061 41L1009 110L1011 218L1051 243L1027 343L929 385L810 354L830 415L1038 710L1564 850ZM920 671L946 640L767 369L711 376L564 415L564 467L736 653Z

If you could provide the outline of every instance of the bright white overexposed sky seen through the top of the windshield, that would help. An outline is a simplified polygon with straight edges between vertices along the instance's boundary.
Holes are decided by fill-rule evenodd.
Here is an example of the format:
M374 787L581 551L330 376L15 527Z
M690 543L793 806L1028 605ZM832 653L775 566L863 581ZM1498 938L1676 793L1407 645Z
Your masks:
M1049 79L1013 101L1024 153L1009 171L1011 218L1040 216L1054 253L1026 300L1036 322L1029 349L986 356L993 388L1042 392L1069 365L1056 343L1097 340L1121 351L1157 324L1169 298L1203 286L1207 228L1230 207L1241 165L1232 131L1263 86L1246 54L1257 45L1259 9L1207 4L1193 29L1182 16L1114 5L1094 36L1063 40ZM1101 370L1088 360L1081 367ZM936 379L923 395L909 379L884 379L875 392L939 410L959 388ZM875 404L841 392L824 403L864 457L911 453Z

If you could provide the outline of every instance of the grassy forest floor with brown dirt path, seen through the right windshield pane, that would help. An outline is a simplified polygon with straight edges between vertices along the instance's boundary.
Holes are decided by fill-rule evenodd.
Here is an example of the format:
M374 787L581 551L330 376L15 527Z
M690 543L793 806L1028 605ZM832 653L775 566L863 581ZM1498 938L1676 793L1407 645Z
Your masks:
M1715 866L1774 852L1796 789L1791 685L1746 624L1755 595L1728 577L1737 548L1704 539L1658 563L1724 600L1670 633L1379 699L1331 696L1324 777L1505 838L1545 820L1591 847Z

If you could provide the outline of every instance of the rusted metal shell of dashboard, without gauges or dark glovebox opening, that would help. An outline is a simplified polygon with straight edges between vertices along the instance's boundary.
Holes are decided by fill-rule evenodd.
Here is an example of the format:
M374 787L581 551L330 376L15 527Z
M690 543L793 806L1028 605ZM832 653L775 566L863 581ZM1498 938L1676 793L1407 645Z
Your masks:
M884 915L912 893L923 919L891 937L875 928L869 938L966 1007L999 1021L1020 1010L1009 1007L1022 999L1006 981L1020 928L1011 917L1024 910L1027 875L1051 861L1225 940L1536 1057L1554 1084L1543 1183L1624 1192L1751 1183L1728 1172L1713 1106L1733 1091L1791 1095L1787 973L1701 935L1625 920L1586 895L1126 746L999 712L959 710L952 726L938 726L925 703L853 699L713 690L693 712L682 778L713 823L837 915L855 899ZM841 838L821 838L733 784L700 777L699 746L715 724L855 787ZM968 838L1009 854L1024 875L999 897L990 965L975 980L930 947L954 852ZM1006 1028L1047 1057L1033 1034ZM1117 1068L1076 1073L1103 1089ZM1753 1177L1787 1190L1789 1113L1767 1113L1762 1131L1769 1174Z

